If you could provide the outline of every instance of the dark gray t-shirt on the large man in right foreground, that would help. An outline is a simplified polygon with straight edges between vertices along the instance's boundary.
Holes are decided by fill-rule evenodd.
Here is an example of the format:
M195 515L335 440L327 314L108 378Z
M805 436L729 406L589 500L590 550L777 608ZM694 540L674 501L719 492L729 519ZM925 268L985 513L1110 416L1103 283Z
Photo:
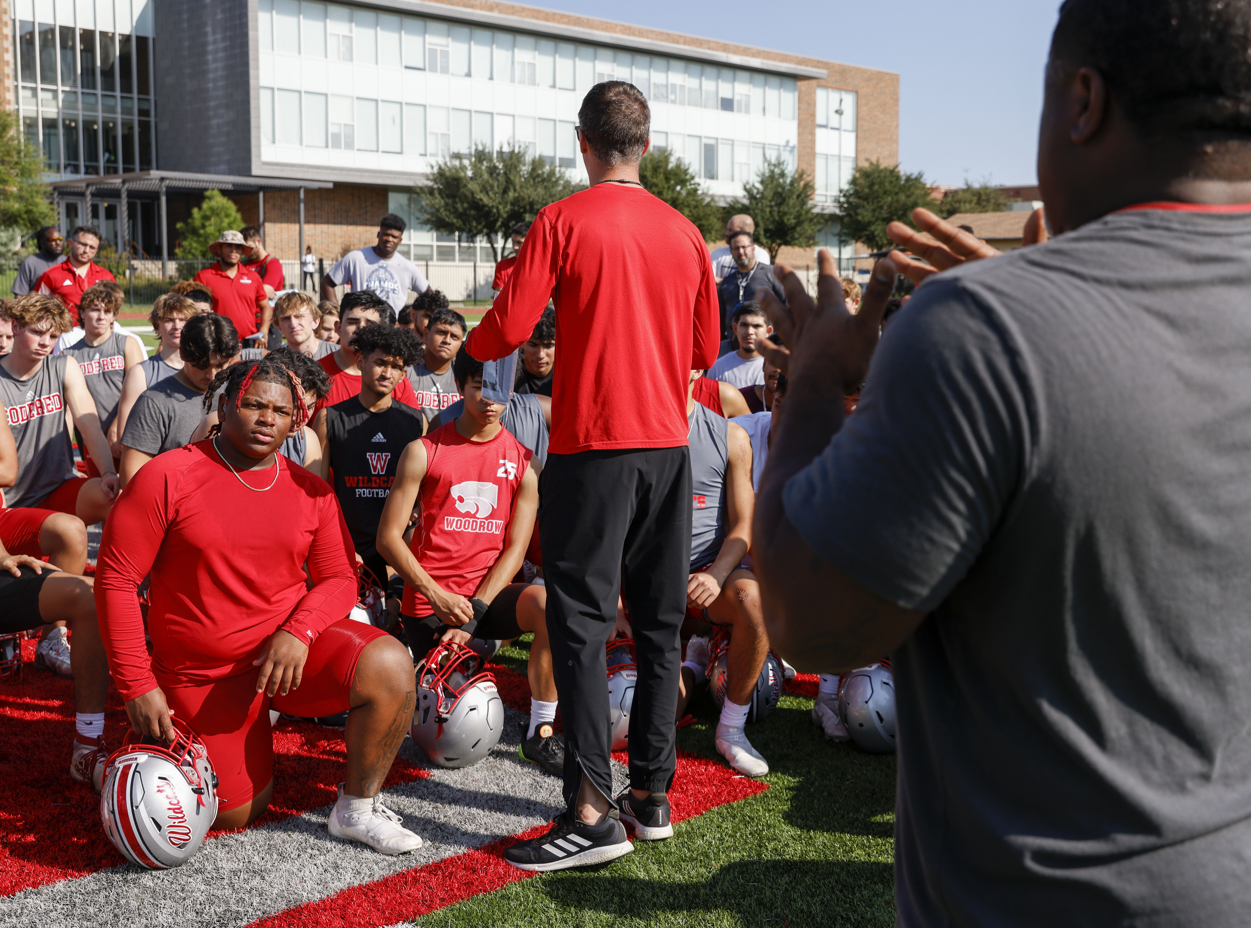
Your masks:
M923 284L788 483L896 652L901 925L1243 925L1251 211ZM837 398L836 398L837 399Z

